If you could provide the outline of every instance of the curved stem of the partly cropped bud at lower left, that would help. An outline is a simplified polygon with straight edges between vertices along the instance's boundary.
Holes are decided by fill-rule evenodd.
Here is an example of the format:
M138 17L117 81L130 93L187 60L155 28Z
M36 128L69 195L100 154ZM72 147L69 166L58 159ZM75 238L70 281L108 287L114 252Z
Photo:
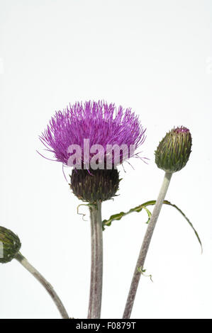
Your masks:
M50 294L52 300L55 302L55 305L57 306L57 309L60 311L60 315L63 319L69 319L69 315L67 314L67 311L65 310L64 305L62 304L60 298L57 296L57 293L55 293L55 290L53 287L48 283L48 281L45 280L45 278L35 269L28 260L21 254L21 252L18 252L16 255L16 259L20 262L20 264L25 267L35 278L43 285L43 287L48 291Z

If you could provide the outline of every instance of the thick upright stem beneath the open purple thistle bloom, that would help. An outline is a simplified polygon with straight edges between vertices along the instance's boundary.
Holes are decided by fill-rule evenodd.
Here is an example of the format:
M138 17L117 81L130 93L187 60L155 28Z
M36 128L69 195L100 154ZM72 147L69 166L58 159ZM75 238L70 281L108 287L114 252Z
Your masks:
M98 201L89 209L91 218L91 284L88 318L99 319L103 273L101 202Z

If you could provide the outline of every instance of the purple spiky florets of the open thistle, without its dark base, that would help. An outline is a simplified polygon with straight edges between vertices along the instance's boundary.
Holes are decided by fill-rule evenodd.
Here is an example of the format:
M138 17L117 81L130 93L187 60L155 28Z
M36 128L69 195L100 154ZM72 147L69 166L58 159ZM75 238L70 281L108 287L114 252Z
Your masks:
M128 156L120 150L118 159L121 163L136 155L135 149L145 140L145 129L130 108L124 110L122 106L116 108L113 103L86 101L84 104L77 102L70 105L64 111L57 111L40 136L47 150L55 154L55 160L65 165L69 165L71 156L69 147L72 145L80 147L82 164L87 165L91 161L95 153L89 151L89 156L85 160L85 139L89 139L89 147L93 145L103 147L104 162L108 154L108 145L118 145L118 147L125 145L128 148ZM133 152L130 152L131 146L134 147ZM113 165L118 164L116 153L111 152L111 159Z

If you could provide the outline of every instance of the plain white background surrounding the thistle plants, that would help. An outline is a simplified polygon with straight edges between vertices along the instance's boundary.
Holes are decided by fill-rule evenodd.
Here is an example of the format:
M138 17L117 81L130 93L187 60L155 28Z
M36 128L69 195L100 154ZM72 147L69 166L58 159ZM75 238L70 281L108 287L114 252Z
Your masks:
M157 198L163 171L154 151L177 125L191 130L186 167L174 174L145 262L132 318L211 318L210 0L0 0L0 223L62 298L70 317L87 317L89 212L69 190L62 165L43 159L38 135L55 111L103 98L140 115L149 164L121 170L120 196L103 218ZM71 170L66 170L67 175ZM152 208L151 208L152 209ZM121 318L147 225L146 213L104 232L103 318ZM1 318L56 318L45 289L18 261L0 266Z

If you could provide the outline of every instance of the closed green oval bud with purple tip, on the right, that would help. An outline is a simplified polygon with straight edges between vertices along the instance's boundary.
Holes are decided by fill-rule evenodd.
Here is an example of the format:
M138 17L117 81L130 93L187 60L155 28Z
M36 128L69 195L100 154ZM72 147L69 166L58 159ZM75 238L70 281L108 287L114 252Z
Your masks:
M155 151L155 163L166 172L181 170L191 154L191 133L183 126L174 128L162 139Z

